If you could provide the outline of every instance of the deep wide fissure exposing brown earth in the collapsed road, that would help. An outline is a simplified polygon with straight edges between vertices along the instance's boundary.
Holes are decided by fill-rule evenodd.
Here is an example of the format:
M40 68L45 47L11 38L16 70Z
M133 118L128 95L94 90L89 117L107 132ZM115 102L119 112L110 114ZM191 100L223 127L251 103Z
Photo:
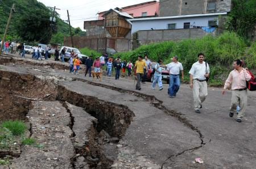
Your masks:
M89 137L89 142L85 144L83 149L76 149L76 154L85 157L91 168L108 168L111 166L113 160L105 157L102 146L111 140L118 143L134 116L134 113L124 105L107 103L92 96L78 95L68 91L63 86L41 80L30 74L0 70L0 93L1 121L19 119L28 122L27 112L32 108L31 102L36 100L59 100L63 105L67 101L84 108L86 112L96 117L98 122L94 122L88 133L85 133ZM68 109L67 111L71 113ZM72 114L70 116L69 127L72 129L74 119ZM29 130L31 136L32 128L30 127ZM102 133L109 136L102 136ZM75 133L72 137L75 137ZM102 141L99 142L99 140ZM2 150L0 151L2 152ZM1 158L5 155L13 155L12 151L7 151L7 154L6 151L5 154L0 154L2 154ZM74 168L76 158L71 159Z

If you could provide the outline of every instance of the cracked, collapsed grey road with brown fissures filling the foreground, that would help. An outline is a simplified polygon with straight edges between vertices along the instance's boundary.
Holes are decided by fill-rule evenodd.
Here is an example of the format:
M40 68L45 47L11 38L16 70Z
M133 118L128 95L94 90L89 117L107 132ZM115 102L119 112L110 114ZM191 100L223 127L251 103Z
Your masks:
M134 79L92 82L67 63L0 56L0 121L24 120L36 139L0 158L11 155L7 168L255 168L255 92L239 124L228 117L230 92L208 88L198 115L187 85L174 99L167 84L150 85L135 91Z

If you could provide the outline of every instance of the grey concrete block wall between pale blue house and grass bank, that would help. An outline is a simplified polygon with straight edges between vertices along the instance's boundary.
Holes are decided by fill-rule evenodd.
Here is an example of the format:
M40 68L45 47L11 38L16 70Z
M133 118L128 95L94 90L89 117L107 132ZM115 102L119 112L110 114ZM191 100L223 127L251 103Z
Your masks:
M156 43L160 41L169 41L169 40L182 40L182 39L195 39L203 37L205 35L217 36L218 30L207 33L203 29L167 29L167 30L154 30L154 31L138 31L138 41L139 44L149 44Z

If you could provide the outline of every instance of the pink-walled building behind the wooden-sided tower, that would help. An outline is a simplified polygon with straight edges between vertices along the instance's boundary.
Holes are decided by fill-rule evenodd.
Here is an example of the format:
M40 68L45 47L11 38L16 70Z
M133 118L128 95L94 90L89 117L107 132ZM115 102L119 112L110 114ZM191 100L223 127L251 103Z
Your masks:
M159 2L149 1L144 3L138 3L136 5L126 6L119 9L121 12L126 12L127 14L133 16L134 18L142 16L158 16L159 15ZM106 11L98 13L98 20L102 20L102 15Z

